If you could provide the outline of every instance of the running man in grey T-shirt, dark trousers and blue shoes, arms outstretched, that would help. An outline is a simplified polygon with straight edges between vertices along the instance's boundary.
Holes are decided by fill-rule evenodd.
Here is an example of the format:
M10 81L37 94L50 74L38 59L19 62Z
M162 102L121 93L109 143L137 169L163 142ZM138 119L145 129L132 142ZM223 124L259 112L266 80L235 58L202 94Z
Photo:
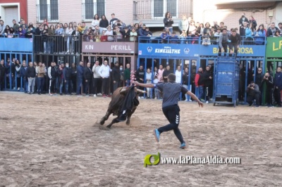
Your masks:
M176 75L173 73L168 75L168 82L159 83L159 84L143 84L139 82L133 82L136 86L142 86L146 88L157 88L164 92L162 110L169 124L164 127L160 127L159 129L154 129L154 136L156 141L159 142L159 136L164 131L174 131L176 137L180 141L180 148L185 148L186 144L183 140L183 136L181 135L180 130L178 129L178 124L180 121L179 111L180 108L178 106L179 94L182 92L183 94L188 94L195 101L198 102L199 107L203 107L203 103L195 96L194 93L185 89L181 84L176 83Z

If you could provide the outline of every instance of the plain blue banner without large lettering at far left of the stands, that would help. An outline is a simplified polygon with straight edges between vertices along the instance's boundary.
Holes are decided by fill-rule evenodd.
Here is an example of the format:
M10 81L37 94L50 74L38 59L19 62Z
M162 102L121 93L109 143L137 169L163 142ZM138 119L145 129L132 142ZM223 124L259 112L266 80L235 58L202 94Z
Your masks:
M0 38L0 51L32 52L32 38Z

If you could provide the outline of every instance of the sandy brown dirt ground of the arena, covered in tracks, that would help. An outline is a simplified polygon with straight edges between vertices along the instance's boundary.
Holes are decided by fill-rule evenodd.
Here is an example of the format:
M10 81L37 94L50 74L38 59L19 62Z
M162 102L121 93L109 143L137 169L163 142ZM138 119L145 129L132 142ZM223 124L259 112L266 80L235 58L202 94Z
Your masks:
M142 99L130 126L96 124L111 98L0 92L0 186L282 186L281 108L180 102L180 130ZM110 117L106 124L114 117ZM240 157L240 165L153 165L147 154Z

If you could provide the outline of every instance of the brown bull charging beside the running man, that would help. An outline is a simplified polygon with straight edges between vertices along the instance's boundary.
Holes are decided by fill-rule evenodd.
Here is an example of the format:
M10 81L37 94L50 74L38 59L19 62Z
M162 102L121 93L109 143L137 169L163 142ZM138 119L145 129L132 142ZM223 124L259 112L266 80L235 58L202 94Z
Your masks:
M116 91L114 91L113 95L111 96L111 102L109 103L109 108L108 110L106 110L106 115L102 117L99 124L103 125L104 122L109 119L109 116L111 114L117 115L118 117L114 118L114 120L112 120L111 123L108 124L106 127L111 128L112 124L121 122L121 120L119 120L119 117L121 115L123 101L125 101L125 97L129 91L130 91L130 86L120 87L116 89ZM135 92L135 98L137 99L138 98L137 93L145 93L146 91L142 91L140 89L135 88L134 92ZM132 110L128 111L126 124L128 125L130 124L130 117L131 115L133 115L136 108L137 108L137 105L133 105Z

